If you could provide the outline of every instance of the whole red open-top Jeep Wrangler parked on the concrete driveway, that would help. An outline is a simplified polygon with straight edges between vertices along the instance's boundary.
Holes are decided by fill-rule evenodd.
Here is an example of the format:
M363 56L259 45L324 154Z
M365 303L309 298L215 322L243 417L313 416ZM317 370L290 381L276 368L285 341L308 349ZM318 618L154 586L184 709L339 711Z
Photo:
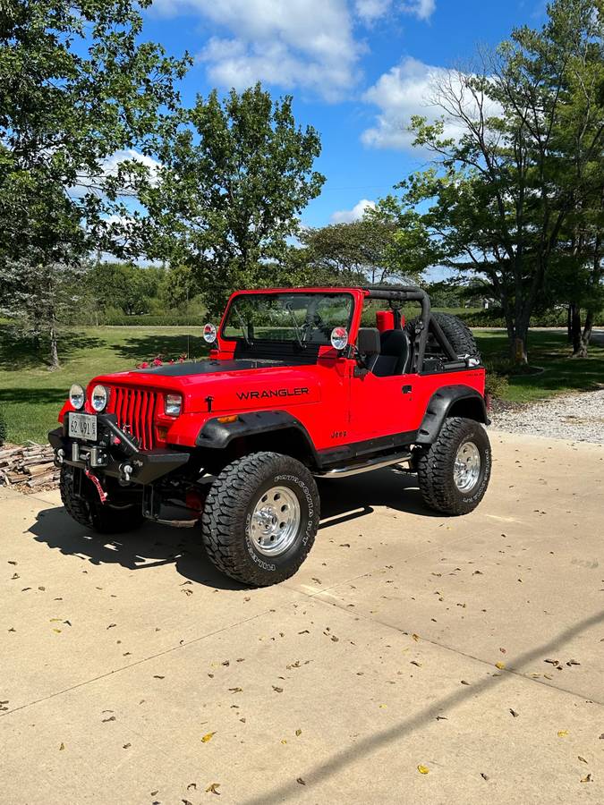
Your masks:
M421 315L405 325L409 302ZM203 336L206 360L72 386L49 439L82 525L115 533L184 505L212 562L262 586L312 547L315 479L404 465L438 512L472 512L484 496L481 358L467 327L430 313L420 289L236 292Z

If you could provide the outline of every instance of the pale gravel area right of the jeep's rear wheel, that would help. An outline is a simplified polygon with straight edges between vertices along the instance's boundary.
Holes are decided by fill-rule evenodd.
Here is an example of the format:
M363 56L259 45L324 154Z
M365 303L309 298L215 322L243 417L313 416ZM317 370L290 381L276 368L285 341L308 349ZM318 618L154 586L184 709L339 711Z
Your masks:
M491 414L491 428L508 433L604 444L604 389L561 394Z

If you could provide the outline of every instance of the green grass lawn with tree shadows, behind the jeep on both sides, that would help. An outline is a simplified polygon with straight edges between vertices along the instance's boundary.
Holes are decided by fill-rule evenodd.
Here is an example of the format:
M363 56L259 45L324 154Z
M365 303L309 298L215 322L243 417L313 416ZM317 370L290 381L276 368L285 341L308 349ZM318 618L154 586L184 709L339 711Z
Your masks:
M506 359L505 333L476 330L475 335L486 360ZM45 442L73 382L86 384L102 372L131 369L157 354L169 360L187 352L207 352L199 327L79 327L64 333L61 369L49 372L46 354L38 354L30 343L15 339L9 326L0 325L0 406L8 439ZM533 366L545 371L510 377L506 399L528 402L604 385L604 348L593 345L590 352L586 360L569 360L564 334L533 331L529 357Z

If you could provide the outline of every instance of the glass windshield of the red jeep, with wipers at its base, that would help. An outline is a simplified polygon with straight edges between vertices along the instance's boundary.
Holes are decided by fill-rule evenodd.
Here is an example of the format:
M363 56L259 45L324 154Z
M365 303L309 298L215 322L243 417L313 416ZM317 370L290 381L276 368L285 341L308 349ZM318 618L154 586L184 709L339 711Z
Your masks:
M222 337L256 342L329 344L334 327L350 329L350 293L245 293L228 309Z

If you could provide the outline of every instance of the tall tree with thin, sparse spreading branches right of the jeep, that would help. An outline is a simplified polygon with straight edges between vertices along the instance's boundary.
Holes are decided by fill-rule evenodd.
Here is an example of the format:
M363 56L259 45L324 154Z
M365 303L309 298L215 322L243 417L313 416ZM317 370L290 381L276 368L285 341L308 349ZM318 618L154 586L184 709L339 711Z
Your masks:
M435 262L487 279L517 362L527 361L533 309L604 142L597 83L590 103L573 103L583 65L602 62L600 0L555 0L548 11L542 30L516 29L479 69L438 80L443 118L412 121L434 165L385 202L400 218L431 205L421 225Z

